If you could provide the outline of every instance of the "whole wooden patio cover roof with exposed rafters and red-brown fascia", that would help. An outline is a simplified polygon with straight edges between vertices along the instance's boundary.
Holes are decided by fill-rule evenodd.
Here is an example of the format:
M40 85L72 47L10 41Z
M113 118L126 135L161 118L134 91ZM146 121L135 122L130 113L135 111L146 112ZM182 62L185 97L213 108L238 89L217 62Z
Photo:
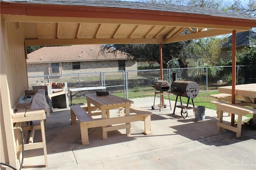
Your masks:
M1 14L23 25L26 46L172 43L256 27L254 17L211 8L106 0L1 0Z

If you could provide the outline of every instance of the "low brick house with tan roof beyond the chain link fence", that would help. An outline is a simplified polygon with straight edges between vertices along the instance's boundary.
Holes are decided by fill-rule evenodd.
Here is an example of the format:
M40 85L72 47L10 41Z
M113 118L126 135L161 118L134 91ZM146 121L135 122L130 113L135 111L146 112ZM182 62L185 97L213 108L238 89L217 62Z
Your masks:
M28 54L28 76L136 70L127 55L100 53L100 45L42 47Z

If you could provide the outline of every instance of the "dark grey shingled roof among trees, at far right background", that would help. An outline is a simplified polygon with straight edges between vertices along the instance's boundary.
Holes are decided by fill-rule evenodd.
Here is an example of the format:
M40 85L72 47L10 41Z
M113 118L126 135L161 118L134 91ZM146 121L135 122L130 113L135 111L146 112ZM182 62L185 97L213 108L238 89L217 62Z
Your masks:
M256 45L250 39L256 40L256 32L246 31L246 32L238 32L236 33L236 47L249 47L251 45ZM222 47L228 48L231 47L232 44L232 36L228 37L228 42L225 43Z

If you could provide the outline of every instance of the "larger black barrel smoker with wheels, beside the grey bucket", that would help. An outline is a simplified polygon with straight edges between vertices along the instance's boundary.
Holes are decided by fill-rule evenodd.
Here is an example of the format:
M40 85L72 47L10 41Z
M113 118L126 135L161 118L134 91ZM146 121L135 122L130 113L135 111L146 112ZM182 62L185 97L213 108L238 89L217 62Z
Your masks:
M171 85L171 93L176 95L176 101L174 105L173 114L175 114L176 107L181 108L180 114L185 119L188 117L188 109L193 109L195 107L193 99L196 98L196 96L199 93L199 86L194 81L179 81L176 80ZM178 97L180 97L180 104L177 105ZM187 105L182 105L181 97L187 97L188 102ZM192 100L193 107L188 107L188 103Z

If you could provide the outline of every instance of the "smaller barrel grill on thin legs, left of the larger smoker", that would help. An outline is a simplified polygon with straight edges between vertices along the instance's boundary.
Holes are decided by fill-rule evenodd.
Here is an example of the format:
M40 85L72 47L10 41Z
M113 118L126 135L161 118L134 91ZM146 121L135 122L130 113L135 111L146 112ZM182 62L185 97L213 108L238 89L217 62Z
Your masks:
M152 110L155 109L156 94L159 94L159 93L160 93L160 106L159 106L160 109L159 109L159 111L161 111L161 106L162 106L162 95L168 95L169 102L170 102L170 109L172 110L171 101L170 101L170 93L168 91L170 89L170 84L168 83L168 81L158 80L154 83L154 86L152 86L152 87L155 88L154 104L153 104L153 106L151 106ZM164 105L164 108L166 108L164 101L163 101L163 105Z

